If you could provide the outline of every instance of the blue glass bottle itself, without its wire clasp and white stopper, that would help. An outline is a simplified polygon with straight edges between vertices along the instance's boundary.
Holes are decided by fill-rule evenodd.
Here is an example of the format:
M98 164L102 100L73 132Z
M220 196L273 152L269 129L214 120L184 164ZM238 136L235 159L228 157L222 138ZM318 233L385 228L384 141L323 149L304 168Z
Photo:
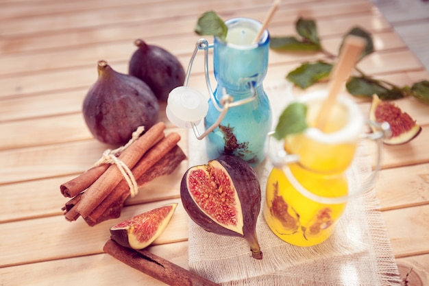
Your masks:
M265 158L264 144L271 130L271 107L262 86L267 74L269 33L262 34L258 43L253 43L262 24L254 19L235 18L225 21L228 27L226 41L215 37L213 60L217 88L217 101L209 100L206 128L219 117L217 106L228 93L233 102L254 99L231 107L221 124L207 136L207 153L210 159L222 154L238 156L255 167Z

